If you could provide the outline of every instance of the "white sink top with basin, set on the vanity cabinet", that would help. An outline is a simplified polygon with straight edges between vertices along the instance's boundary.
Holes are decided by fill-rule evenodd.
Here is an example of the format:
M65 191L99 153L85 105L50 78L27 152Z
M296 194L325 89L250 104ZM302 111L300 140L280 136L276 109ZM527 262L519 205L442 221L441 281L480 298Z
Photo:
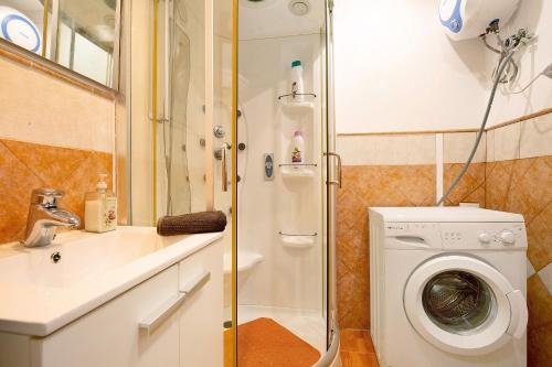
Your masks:
M119 227L62 234L43 248L0 247L0 332L47 335L221 237Z

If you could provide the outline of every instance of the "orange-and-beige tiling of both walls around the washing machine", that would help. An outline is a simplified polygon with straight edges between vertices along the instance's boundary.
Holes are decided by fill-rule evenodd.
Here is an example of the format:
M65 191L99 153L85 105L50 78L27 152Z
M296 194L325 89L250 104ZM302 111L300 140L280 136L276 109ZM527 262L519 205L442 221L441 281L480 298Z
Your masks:
M436 186L440 180L444 188L452 183L475 139L476 132L339 137L338 151L346 164L337 223L342 328L370 327L367 207L433 204ZM478 203L524 216L531 367L552 360L551 141L552 114L487 131L475 163L446 202ZM436 162L443 163L442 177Z

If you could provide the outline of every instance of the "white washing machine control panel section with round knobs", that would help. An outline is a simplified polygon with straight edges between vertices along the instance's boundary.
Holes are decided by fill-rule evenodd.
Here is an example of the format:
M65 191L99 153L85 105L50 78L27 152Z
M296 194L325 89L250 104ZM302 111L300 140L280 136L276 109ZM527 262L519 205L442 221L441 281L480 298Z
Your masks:
M521 223L444 223L442 237L446 249L527 247L526 226Z

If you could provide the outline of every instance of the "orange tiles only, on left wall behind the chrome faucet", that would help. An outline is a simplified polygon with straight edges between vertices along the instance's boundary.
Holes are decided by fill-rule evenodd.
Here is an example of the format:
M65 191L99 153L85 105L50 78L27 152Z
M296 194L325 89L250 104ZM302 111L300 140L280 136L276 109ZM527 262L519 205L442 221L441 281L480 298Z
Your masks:
M84 218L84 194L112 172L109 153L0 139L0 244L23 238L33 188L64 191L60 206Z

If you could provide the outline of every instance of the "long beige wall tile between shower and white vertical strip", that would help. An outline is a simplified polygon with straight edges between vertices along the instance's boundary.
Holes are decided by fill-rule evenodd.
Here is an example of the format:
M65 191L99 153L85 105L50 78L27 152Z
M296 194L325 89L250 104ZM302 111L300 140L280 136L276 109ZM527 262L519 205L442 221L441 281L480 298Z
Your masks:
M339 136L344 165L434 164L435 134Z

